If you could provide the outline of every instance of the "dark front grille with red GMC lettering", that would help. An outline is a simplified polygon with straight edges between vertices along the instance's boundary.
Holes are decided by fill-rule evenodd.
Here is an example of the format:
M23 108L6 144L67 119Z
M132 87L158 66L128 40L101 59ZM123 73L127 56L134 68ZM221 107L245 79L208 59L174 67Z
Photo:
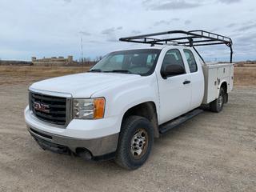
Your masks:
M44 122L65 126L69 121L70 100L46 94L30 92L30 110Z

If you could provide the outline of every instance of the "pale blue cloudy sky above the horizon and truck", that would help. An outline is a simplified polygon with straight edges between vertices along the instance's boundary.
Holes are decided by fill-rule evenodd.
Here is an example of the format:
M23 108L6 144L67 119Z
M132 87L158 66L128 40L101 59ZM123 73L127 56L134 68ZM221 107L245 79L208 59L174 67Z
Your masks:
M256 60L253 0L1 0L0 58L95 58L134 47L118 38L165 30L209 30L234 42L234 60ZM200 49L208 60L226 60L225 46Z

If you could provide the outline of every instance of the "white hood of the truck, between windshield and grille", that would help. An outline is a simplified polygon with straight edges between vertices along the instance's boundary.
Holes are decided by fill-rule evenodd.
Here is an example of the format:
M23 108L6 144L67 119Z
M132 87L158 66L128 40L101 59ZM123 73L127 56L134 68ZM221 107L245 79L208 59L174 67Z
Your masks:
M35 82L30 90L42 90L72 94L74 98L90 98L99 90L114 86L117 82L127 82L140 78L138 74L114 74L114 73L82 73L71 74L59 78L49 78L41 82Z

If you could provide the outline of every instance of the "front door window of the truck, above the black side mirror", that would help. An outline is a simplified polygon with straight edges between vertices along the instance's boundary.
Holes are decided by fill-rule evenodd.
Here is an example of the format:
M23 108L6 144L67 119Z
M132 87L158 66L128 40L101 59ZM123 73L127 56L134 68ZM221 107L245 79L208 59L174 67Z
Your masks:
M163 58L162 61L162 70L166 68L166 66L169 65L178 65L184 67L184 63L182 60L182 55L179 52L179 50L168 50L165 58Z

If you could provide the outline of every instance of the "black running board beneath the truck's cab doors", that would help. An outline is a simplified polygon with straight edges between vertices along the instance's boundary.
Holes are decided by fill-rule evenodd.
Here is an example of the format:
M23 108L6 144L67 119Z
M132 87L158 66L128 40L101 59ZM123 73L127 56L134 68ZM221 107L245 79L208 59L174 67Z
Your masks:
M166 122L166 123L162 124L161 126L159 126L159 133L164 134L168 130L171 130L176 126L181 125L183 122L186 122L190 118L194 118L194 116L201 114L202 112L203 112L203 110L196 109L196 110L191 110L190 112L188 112L186 114L182 114L182 116L175 118L174 120L171 120L170 122Z

